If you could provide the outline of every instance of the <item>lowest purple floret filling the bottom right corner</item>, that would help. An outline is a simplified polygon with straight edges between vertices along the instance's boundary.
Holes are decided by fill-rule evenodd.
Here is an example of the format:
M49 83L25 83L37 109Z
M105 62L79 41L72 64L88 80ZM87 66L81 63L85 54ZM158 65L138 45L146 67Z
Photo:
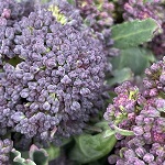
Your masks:
M122 155L121 158L116 155L116 157L118 157L117 164L118 162L122 162L124 165L128 163L135 165L164 164L165 147L158 143L129 147L125 143L124 147L120 151L120 155Z

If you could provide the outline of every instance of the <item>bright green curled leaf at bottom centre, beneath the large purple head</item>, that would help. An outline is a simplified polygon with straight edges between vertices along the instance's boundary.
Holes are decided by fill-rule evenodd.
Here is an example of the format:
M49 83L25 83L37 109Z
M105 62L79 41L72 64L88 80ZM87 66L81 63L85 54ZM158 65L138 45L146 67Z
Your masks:
M69 155L70 160L82 164L89 163L103 157L113 148L117 142L114 134L107 139L103 138L107 129L110 129L108 122L103 121L96 125L100 127L102 132L96 135L81 134L77 136L76 145Z

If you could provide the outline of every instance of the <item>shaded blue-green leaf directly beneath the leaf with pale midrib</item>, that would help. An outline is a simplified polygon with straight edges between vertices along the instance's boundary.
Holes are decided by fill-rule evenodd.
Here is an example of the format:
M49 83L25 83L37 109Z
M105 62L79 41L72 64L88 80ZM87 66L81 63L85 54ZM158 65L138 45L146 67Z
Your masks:
M131 68L134 75L141 75L144 73L145 68L153 63L153 54L142 47L130 47L127 50L121 50L120 55L113 57L111 63L113 69L123 69L124 67Z

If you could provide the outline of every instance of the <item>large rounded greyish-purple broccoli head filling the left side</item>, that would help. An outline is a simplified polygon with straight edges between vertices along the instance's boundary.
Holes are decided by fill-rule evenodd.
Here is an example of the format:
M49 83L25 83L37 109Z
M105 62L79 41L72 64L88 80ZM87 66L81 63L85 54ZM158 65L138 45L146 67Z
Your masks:
M15 67L6 64L0 79L2 107L13 111L6 127L12 122L28 138L80 133L103 106L107 58L102 44L91 33L70 25L72 16L64 22L67 14L57 7L51 6L55 13L36 9L14 24L19 33L14 53L22 62Z

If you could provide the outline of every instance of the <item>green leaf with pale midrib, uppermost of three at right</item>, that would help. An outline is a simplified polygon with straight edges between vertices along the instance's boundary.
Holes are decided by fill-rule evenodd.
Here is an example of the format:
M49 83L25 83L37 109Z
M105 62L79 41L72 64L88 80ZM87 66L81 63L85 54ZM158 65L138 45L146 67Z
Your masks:
M158 29L158 24L153 19L117 24L111 29L114 47L128 48L148 42Z

